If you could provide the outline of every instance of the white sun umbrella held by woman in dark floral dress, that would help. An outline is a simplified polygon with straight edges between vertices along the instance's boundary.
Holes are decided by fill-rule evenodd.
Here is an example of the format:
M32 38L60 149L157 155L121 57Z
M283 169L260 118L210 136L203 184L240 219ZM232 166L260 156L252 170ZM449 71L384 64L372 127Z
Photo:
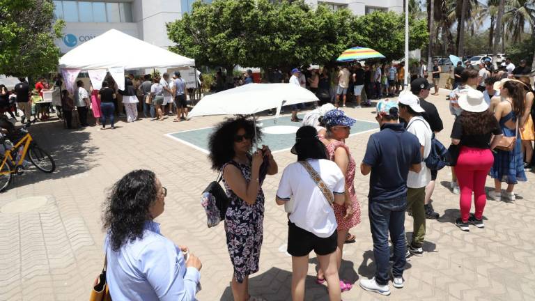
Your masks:
M256 123L255 114L261 111L277 109L278 118L283 106L318 100L314 93L295 84L245 84L206 95L187 116L252 115Z

